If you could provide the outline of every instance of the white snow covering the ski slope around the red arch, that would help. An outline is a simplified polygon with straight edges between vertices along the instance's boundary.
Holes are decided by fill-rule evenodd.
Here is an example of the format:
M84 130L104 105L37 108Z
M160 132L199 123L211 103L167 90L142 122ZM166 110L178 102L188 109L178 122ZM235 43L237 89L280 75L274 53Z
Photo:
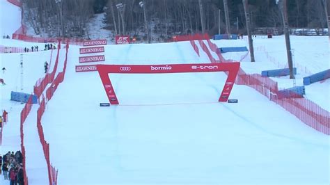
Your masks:
M10 9L13 5L6 1L0 5L0 33L10 35L19 28L20 12L15 6ZM8 13L12 16L4 19ZM329 61L322 58L329 51L317 49L322 45L313 38L297 38L303 40L315 44L311 54L298 49L296 56L300 52L302 59L297 62L321 62L312 67L308 63L313 72L324 68ZM271 52L284 61L272 40L259 40L258 44L274 48ZM2 38L0 45L43 48L43 44ZM100 77L97 72L75 73L79 47L70 46L69 51L65 81L42 118L51 161L58 168L58 184L329 184L329 136L307 127L246 86L233 88L230 98L239 99L238 104L218 103L225 74L111 74L125 106L101 108L99 103L107 102L107 97ZM200 58L195 54L189 42L109 45L106 52L107 64L209 63L203 52ZM53 61L54 57L56 51ZM58 69L63 57L64 50ZM264 54L256 52L256 57L267 61ZM23 58L23 88L31 93L33 84L44 75L43 63L49 61L50 51L24 54ZM23 105L9 100L10 91L21 88L19 60L20 54L0 54L0 67L7 68L0 74L7 82L1 86L0 109L9 110L10 120L3 131L1 154L20 149ZM260 72L265 65L271 64L242 63L244 70L252 72ZM317 92L329 91L329 80L307 90L309 98L318 98L317 103L329 102L329 96L317 96ZM36 108L33 106L24 124L26 170L29 184L48 184L36 131ZM8 182L1 177L0 184Z

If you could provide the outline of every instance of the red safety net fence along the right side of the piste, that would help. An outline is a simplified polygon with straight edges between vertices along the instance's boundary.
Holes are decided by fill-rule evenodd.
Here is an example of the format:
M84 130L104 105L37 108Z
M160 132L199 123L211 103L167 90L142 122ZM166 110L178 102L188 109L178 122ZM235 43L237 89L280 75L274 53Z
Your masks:
M229 63L231 60L226 60L219 53L217 45L207 39L207 43L211 51L215 52L219 58L213 58L210 50L207 48L202 40L199 40L203 51L210 58L212 63ZM194 45L192 45L194 47ZM254 88L262 95L265 95L276 104L281 105L285 110L295 115L301 122L320 131L324 134L330 135L330 113L324 110L314 102L304 98L283 98L278 96L277 82L268 77L261 77L260 74L246 74L242 68L239 70L235 83L239 85L246 85Z

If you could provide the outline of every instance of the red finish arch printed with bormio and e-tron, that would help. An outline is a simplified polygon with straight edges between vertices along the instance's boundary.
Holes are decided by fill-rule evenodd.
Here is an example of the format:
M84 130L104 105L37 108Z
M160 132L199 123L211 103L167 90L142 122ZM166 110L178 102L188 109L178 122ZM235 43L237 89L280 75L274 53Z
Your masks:
M96 65L96 67L110 104L118 105L119 101L113 90L109 73L159 74L183 72L228 72L228 78L219 97L219 102L227 102L239 70L239 65L240 63L194 63L171 65Z

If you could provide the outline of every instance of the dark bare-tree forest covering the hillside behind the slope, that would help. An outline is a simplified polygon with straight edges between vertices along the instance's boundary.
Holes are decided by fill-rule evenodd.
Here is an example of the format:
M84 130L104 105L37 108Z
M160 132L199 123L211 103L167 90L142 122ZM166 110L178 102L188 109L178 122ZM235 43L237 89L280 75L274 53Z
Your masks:
M87 22L105 13L105 29L141 35L146 28L161 38L176 34L225 33L225 0L22 0L24 22L36 34L86 38ZM278 0L277 0L278 1ZM288 0L290 28L327 28L327 0ZM242 0L227 0L232 33L246 33ZM251 28L283 27L276 0L249 0ZM202 8L201 8L202 7ZM201 14L203 15L201 17Z

